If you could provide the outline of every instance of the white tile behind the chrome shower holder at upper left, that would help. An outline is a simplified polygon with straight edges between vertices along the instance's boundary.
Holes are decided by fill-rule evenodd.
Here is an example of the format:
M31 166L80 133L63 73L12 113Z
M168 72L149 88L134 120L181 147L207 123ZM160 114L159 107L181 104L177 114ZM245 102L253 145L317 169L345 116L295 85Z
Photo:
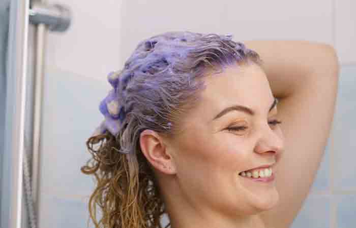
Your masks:
M48 33L46 65L105 81L109 71L121 68L121 1L62 0L60 4L71 9L72 24L64 33Z

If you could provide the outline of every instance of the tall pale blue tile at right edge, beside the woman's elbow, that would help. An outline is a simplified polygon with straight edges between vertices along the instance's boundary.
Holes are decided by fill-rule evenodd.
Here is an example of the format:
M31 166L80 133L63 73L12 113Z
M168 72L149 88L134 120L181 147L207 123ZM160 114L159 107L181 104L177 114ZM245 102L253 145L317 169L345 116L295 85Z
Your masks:
M334 118L335 188L356 187L356 66L343 66Z

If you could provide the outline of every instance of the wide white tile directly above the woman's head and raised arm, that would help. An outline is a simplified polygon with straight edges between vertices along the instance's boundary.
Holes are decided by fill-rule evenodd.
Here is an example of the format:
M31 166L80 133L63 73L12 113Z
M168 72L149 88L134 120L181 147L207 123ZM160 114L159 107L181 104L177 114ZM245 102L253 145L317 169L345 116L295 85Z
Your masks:
M176 30L231 33L234 41L310 40L333 44L332 0L123 1L122 60L138 42Z

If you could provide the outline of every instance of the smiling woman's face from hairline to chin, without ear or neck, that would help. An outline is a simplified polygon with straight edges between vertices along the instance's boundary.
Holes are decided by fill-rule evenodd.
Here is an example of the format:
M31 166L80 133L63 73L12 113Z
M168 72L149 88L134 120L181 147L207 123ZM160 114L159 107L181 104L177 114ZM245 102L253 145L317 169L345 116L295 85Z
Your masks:
M236 65L203 80L201 101L186 113L183 132L171 141L180 190L199 208L233 215L274 207L279 200L275 181L256 182L239 175L275 165L283 149L280 127L269 124L276 120L277 107L269 111L274 97L263 70L255 64ZM235 105L250 108L254 115L240 110L218 115ZM234 127L245 129L228 129Z

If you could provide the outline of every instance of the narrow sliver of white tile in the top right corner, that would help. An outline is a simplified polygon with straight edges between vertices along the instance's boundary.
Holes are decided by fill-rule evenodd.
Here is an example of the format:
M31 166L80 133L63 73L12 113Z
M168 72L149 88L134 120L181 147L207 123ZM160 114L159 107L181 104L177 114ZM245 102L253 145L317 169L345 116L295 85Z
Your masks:
M356 2L335 2L335 47L341 63L356 64Z

